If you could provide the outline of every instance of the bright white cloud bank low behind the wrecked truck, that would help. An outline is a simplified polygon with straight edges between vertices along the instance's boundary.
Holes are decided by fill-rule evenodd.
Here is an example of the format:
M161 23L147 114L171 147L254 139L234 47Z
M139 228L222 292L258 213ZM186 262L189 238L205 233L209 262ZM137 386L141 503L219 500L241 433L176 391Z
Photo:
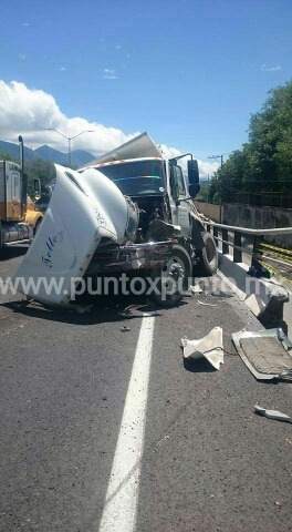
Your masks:
M18 136L21 134L27 146L36 149L48 144L55 150L66 152L66 140L54 131L45 131L44 127L52 127L66 136L94 130L94 133L84 133L74 139L72 150L85 150L96 157L139 134L139 132L126 134L98 122L88 122L81 116L67 117L51 94L29 89L24 83L17 81L8 84L0 80L0 139L17 143ZM175 147L161 145L161 149L165 156L180 155ZM182 164L182 167L185 166L186 162ZM199 161L199 168L200 175L204 177L208 174L211 175L218 168L218 164Z

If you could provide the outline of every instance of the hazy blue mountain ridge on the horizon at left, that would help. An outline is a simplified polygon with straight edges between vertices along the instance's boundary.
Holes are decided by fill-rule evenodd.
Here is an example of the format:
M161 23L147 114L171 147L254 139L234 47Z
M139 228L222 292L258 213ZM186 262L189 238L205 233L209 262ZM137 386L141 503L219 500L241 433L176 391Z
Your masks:
M13 158L19 158L19 145L12 142L0 141L0 153L10 153ZM24 160L32 161L33 158L45 158L56 164L67 164L67 153L59 152L50 146L41 146L36 150L30 150L24 146ZM83 166L94 158L94 155L84 150L73 150L71 152L72 166Z

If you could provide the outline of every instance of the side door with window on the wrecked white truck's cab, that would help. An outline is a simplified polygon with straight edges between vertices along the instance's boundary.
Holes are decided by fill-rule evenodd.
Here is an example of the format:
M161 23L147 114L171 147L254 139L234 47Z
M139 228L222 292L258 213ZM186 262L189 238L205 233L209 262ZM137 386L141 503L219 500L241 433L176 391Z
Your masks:
M188 202L181 202L188 197L186 184L180 166L170 166L170 193L171 193L171 216L173 224L180 225L184 236L189 237L191 234L190 221L189 221L189 205ZM179 205L177 205L177 200Z

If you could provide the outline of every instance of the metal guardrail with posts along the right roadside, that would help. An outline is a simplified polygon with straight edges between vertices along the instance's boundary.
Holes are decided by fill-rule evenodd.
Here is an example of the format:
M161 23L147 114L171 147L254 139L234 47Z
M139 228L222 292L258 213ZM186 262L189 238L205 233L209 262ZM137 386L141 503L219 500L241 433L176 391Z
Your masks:
M271 235L291 235L292 227L279 227L275 229L251 229L249 227L238 227L233 225L217 224L207 222L207 229L212 233L217 246L222 244L222 254L229 254L229 247L233 248L233 262L242 263L242 254L251 257L251 265L257 266L262 260L272 262L280 267L290 268L292 273L292 250L283 249L277 246L269 246L261 242L262 236ZM212 228L212 232L211 232ZM221 237L219 236L221 233ZM232 237L230 238L230 233ZM249 247L242 245L242 237L250 235L251 244Z

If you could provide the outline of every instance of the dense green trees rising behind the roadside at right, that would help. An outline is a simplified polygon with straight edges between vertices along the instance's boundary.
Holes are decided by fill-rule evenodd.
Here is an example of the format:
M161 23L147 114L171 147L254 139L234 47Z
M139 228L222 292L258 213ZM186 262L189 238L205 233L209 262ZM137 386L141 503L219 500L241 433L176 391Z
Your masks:
M208 195L219 204L243 192L292 193L292 81L271 90L251 115L249 142L216 172Z

